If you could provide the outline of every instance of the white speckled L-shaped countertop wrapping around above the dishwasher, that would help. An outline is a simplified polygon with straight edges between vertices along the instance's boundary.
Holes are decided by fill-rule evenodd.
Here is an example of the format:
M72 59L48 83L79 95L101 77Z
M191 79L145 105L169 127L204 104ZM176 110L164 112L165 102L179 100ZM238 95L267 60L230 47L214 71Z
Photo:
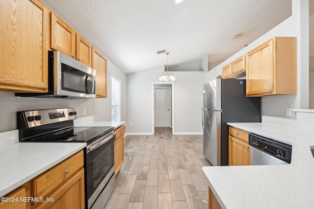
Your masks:
M227 123L292 145L288 165L207 166L203 171L222 208L313 209L314 132L270 123Z

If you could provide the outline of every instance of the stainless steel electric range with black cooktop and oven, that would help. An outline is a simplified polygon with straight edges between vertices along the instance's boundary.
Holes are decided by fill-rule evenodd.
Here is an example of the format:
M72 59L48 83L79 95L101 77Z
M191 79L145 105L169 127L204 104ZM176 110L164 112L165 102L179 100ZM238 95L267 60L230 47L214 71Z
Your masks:
M74 108L17 112L20 142L86 142L85 208L104 208L115 185L113 127L74 127Z

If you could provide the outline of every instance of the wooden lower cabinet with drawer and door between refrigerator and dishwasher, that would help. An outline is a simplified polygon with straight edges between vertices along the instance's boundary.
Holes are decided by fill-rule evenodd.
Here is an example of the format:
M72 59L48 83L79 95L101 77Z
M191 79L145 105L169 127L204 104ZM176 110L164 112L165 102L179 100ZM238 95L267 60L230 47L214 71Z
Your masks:
M247 132L229 127L229 165L250 165L250 146Z

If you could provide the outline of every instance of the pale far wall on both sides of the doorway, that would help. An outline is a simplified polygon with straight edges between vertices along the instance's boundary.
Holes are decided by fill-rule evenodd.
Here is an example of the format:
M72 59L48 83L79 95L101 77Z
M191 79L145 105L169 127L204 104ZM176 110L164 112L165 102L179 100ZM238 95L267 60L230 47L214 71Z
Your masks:
M152 82L159 82L162 71L160 66L127 75L128 134L152 134ZM204 72L174 72L174 75L177 78L174 82L175 133L202 133L200 105Z

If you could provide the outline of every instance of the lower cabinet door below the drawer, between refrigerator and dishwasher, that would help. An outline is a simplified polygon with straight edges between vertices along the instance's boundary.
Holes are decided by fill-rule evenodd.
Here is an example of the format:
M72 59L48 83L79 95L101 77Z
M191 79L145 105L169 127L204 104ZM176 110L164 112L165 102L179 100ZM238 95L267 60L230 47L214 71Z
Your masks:
M249 165L250 146L240 139L229 136L229 165Z

